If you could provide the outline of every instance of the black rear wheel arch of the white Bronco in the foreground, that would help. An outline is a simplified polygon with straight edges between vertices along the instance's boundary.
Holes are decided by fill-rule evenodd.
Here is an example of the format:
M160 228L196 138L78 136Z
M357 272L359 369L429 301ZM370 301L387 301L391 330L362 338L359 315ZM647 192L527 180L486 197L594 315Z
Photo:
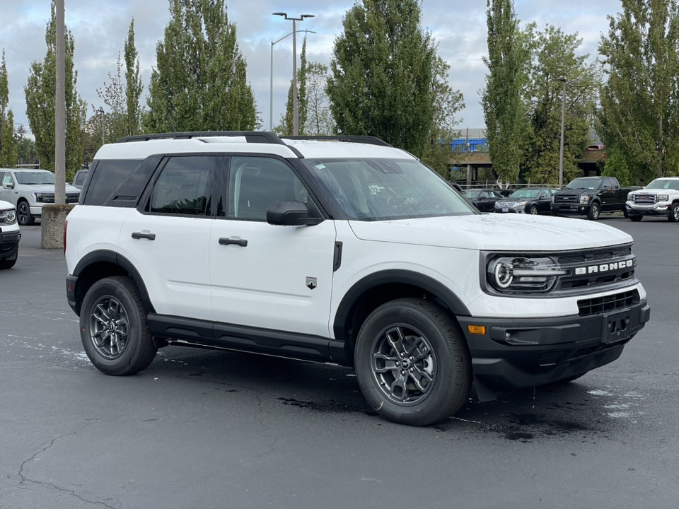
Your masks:
M139 290L141 296L141 303L144 305L146 312L156 312L151 303L149 292L146 290L144 280L141 279L139 271L134 267L134 264L126 257L111 250L96 250L86 254L80 262L76 265L73 276L77 278L74 288L74 297L76 300L76 313L80 315L80 309L83 303L85 294L91 286L110 276L127 276Z

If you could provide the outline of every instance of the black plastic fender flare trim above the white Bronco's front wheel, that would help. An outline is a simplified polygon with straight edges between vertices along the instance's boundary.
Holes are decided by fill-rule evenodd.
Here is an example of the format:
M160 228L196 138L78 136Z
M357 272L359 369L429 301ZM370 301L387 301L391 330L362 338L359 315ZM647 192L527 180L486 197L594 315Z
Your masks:
M337 307L335 313L335 322L333 330L335 331L335 341L344 342L347 338L347 330L344 324L347 323L349 316L354 310L354 306L359 298L369 291L371 288L381 286L383 284L401 283L422 288L427 293L441 299L441 301L448 306L455 316L470 316L467 306L460 300L458 296L436 279L433 279L419 272L403 270L403 269L388 269L384 271L375 272L369 276L354 283L352 288L344 294L342 302Z

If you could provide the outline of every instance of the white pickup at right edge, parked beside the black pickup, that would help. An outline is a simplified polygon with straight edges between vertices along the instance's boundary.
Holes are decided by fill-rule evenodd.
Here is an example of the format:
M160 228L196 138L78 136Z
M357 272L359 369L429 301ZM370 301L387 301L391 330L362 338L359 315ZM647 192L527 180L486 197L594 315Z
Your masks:
M625 211L630 221L641 221L644 216L666 216L679 221L679 177L654 180L644 189L627 194Z

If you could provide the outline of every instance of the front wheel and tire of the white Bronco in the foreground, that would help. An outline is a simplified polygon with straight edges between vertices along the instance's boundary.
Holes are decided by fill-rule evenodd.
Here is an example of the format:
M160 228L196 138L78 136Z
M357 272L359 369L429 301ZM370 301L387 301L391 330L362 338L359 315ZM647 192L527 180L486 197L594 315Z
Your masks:
M359 331L354 361L368 404L396 423L442 421L465 404L472 385L470 353L457 322L419 298L374 310Z

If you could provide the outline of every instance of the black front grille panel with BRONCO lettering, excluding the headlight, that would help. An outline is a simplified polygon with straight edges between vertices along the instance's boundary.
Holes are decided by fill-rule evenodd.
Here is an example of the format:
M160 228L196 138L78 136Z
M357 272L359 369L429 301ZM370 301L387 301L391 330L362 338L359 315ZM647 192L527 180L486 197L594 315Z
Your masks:
M487 280L487 264L496 257L550 257L567 271L547 292L506 291L493 288ZM632 286L639 282L634 269L637 257L632 243L571 252L482 252L481 287L494 296L518 298L562 298L580 296Z

